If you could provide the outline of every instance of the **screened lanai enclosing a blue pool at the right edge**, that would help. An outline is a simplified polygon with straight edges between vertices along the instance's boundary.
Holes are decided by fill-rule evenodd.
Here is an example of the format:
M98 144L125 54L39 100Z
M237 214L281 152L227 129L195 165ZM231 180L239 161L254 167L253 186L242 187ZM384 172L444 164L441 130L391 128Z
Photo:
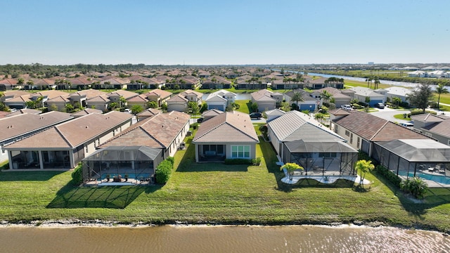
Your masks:
M374 143L373 159L402 178L418 176L430 187L450 187L450 146L432 139Z

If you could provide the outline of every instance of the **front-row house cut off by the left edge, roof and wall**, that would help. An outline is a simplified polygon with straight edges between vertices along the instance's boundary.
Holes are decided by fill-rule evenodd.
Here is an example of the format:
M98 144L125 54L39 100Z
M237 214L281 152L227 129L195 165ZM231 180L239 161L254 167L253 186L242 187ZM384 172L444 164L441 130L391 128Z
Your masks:
M27 110L27 109L25 109ZM17 112L20 112L19 110ZM19 141L28 136L44 131L49 127L72 119L65 112L46 112L42 114L20 113L0 119L0 162L8 160L4 146Z

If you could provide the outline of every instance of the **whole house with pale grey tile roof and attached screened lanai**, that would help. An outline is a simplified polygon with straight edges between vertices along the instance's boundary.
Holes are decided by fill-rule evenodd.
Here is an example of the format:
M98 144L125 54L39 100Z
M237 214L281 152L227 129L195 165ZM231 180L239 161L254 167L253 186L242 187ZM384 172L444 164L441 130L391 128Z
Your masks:
M290 111L267 123L268 136L281 161L295 162L310 175L354 175L358 151L345 138L309 115Z

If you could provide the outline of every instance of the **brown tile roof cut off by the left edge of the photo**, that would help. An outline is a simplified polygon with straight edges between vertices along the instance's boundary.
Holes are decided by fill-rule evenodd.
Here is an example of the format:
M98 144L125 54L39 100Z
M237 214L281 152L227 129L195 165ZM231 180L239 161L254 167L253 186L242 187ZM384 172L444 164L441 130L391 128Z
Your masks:
M60 122L65 122L68 119L72 119L72 116L68 113L57 111L46 112L41 115L25 113L4 117L0 119L0 140L16 138ZM47 142L44 141L44 143Z

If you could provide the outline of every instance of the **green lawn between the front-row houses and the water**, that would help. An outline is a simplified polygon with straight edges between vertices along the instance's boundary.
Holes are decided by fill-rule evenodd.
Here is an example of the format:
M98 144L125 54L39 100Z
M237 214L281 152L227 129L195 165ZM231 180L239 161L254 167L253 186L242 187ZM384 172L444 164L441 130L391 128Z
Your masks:
M257 126L256 126L257 128ZM432 190L414 204L377 174L367 192L345 181L332 186L302 181L281 183L270 143L262 140L260 166L197 164L186 138L165 186L75 187L70 171L0 172L0 220L111 220L120 223L350 223L450 228L450 189ZM368 188L368 186L366 186Z

